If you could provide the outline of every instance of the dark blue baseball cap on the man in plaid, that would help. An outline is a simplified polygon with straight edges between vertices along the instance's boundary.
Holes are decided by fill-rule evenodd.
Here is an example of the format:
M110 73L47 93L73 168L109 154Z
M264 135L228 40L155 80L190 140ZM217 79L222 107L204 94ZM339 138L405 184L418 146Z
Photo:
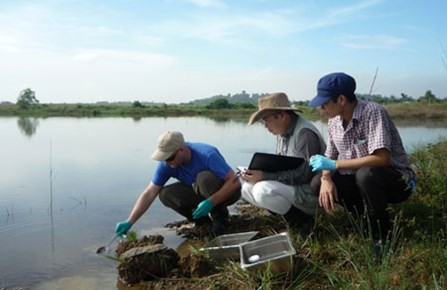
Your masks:
M339 95L352 96L355 87L355 80L350 75L342 72L327 74L318 81L317 95L309 102L309 107L321 106Z

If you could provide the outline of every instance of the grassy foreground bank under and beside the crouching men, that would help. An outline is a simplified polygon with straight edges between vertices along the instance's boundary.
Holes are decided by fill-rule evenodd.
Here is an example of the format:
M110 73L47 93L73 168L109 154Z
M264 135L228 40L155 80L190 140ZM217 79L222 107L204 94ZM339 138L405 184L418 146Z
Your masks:
M212 289L446 289L447 141L417 148L411 155L418 187L409 200L390 207L394 232L382 259L371 239L342 208L319 217L315 234L289 234L298 252L289 273L249 273L237 261L222 269L225 278L204 278Z

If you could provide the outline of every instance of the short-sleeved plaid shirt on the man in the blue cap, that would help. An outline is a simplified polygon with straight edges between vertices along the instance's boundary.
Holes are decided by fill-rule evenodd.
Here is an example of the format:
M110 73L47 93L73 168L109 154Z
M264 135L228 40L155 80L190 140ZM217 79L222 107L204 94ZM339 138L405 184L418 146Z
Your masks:
M358 100L346 130L340 116L329 119L327 157L355 159L371 155L381 148L391 153L390 167L405 178L414 178L399 132L382 106ZM354 174L355 171L339 170L340 174Z

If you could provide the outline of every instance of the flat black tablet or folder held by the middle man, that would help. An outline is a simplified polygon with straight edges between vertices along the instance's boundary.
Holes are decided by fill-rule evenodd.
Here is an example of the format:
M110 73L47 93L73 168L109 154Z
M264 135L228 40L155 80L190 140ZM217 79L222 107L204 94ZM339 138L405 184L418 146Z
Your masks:
M251 158L248 169L276 172L295 169L304 162L304 158L256 152Z

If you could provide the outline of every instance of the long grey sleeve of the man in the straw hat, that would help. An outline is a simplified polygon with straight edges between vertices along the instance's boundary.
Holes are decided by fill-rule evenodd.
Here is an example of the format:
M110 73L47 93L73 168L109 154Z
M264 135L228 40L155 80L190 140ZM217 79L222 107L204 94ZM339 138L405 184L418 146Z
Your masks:
M313 176L309 166L310 156L320 152L320 141L317 134L310 129L302 129L295 140L295 155L305 159L305 162L293 170L278 172L263 172L263 180L276 180L288 185L307 183Z

